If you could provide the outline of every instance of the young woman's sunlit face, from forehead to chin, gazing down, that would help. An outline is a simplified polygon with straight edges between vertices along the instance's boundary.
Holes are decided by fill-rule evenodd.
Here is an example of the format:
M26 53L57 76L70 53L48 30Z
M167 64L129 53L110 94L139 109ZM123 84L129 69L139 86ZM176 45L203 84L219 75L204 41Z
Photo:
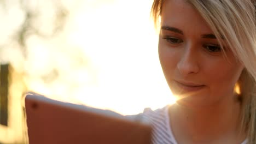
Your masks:
M226 58L211 28L183 0L165 1L161 13L159 58L178 103L212 105L230 101L243 66L225 46Z

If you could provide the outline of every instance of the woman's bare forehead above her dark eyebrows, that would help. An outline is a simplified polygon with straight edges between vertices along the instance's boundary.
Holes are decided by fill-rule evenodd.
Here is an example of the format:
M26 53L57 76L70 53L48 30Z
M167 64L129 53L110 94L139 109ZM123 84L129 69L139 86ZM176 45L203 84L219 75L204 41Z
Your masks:
M166 0L162 5L161 26L182 30L212 33L200 13L185 0Z

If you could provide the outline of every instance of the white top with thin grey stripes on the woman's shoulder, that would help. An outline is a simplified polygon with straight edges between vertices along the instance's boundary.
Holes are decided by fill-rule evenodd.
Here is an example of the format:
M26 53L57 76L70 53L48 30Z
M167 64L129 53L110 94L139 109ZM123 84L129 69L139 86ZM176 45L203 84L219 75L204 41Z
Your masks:
M152 125L152 143L153 144L178 144L175 140L172 130L170 127L169 115L168 115L168 105L162 109L157 109L152 111L147 108L142 113L143 118ZM246 144L247 140L243 141L241 144Z

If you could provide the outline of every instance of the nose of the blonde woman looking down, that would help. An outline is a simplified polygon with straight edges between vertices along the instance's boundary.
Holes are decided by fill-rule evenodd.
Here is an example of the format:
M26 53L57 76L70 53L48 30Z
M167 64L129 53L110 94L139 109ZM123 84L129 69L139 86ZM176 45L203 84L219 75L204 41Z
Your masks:
M193 48L193 46L188 45L184 47L181 53L181 58L177 64L179 73L181 73L181 75L184 77L191 74L197 74L199 72L200 59L198 58L197 54L198 52Z

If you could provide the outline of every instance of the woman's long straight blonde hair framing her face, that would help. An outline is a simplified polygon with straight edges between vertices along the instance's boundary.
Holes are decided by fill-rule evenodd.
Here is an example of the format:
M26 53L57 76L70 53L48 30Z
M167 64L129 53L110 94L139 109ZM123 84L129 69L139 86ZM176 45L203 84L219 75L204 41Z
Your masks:
M165 0L154 0L152 17L158 27ZM241 91L241 130L248 143L256 143L256 10L255 0L187 0L211 27L220 45L223 39L245 69L238 85Z

